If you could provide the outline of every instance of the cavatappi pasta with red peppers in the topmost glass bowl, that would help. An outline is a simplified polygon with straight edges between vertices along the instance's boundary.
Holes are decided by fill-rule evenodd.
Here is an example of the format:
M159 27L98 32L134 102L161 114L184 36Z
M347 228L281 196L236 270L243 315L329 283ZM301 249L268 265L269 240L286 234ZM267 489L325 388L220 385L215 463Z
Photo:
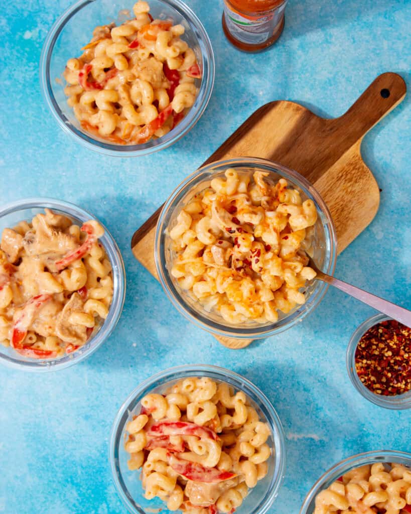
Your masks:
M170 132L194 104L201 78L182 25L153 20L147 2L135 18L96 27L64 71L65 94L83 130L116 144L140 144Z

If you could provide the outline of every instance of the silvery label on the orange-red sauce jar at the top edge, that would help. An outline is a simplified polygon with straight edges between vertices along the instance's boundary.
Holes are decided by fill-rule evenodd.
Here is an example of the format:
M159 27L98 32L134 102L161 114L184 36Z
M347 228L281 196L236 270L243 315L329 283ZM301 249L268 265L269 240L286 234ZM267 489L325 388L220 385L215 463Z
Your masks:
M260 15L246 15L235 11L226 2L224 16L228 30L238 41L251 45L264 43L282 22L287 2Z

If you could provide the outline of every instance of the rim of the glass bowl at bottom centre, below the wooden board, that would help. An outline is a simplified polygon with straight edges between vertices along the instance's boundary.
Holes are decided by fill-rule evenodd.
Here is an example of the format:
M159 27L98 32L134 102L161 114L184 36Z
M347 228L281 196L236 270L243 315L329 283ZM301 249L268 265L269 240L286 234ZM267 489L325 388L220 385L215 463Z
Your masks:
M274 440L274 446L276 449L276 455L279 454L279 457L275 458L275 466L273 471L273 477L275 475L275 472L277 473L276 479L274 481L272 489L266 494L267 498L265 500L265 504L259 506L260 510L258 510L258 514L266 514L278 495L278 492L285 478L287 449L283 425L270 400L257 386L255 386L253 382L234 371L222 368L221 366L214 366L212 364L183 364L159 371L140 382L140 384L127 396L125 401L120 406L114 419L113 426L111 427L110 442L108 446L108 458L110 462L111 476L113 478L116 490L123 502L123 505L125 505L128 511L132 514L145 514L145 511L142 507L139 507L140 510L136 510L135 507L129 502L127 495L124 491L124 489L127 490L127 487L123 488L119 480L120 473L118 473L117 471L115 453L117 448L116 440L118 437L120 438L124 428L124 426L120 427L121 418L127 411L127 408L130 405L130 403L133 400L135 400L138 396L143 397L143 394L150 392L150 390L153 388L153 384L155 384L159 380L161 381L161 383L159 383L156 387L161 387L161 385L163 385L164 383L182 379L183 377L190 377L192 375L198 376L200 373L214 373L216 375L219 375L218 380L221 381L225 381L225 377L229 377L234 381L238 382L238 387L240 387L240 384L246 386L246 388L250 390L254 394L254 396L256 396L256 398L258 398L258 402L256 402L258 406L260 407L261 405L263 405L269 413L270 418L267 418L267 421L270 424L270 426L274 426L276 429L276 433L273 434L273 439L277 439L278 444L275 444Z

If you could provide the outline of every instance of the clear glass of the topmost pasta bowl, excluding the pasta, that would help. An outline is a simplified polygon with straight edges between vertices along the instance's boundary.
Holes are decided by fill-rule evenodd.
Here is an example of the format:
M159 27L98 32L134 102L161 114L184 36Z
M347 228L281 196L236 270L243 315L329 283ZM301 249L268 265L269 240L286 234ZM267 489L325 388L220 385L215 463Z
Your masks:
M43 97L54 118L63 130L91 150L120 157L146 155L167 148L189 132L207 107L214 84L214 54L206 30L194 12L181 0L150 0L151 13L161 19L169 18L185 28L182 39L196 53L202 70L197 81L198 96L190 111L168 134L143 144L121 145L104 141L86 133L67 104L64 94L63 71L71 57L79 56L81 47L91 38L98 25L113 21L123 23L125 10L132 11L133 0L80 0L69 7L51 27L44 42L40 59L40 81Z

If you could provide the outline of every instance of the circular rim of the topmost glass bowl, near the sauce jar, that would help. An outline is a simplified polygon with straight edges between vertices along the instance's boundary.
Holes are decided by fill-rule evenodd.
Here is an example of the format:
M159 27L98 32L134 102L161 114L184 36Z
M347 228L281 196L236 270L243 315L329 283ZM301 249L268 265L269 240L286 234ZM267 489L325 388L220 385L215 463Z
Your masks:
M170 131L168 133L170 134L170 137L165 137L165 140L164 137L155 140L162 140L162 142L153 143L153 140L151 140L139 145L120 145L99 141L91 135L85 134L77 127L73 127L71 123L67 123L68 120L66 116L61 111L57 100L55 100L50 79L51 56L54 50L55 42L57 41L59 35L65 28L67 22L78 11L96 1L98 0L78 0L76 3L70 5L58 17L58 19L53 23L50 30L48 31L40 56L40 87L43 99L47 104L49 111L53 115L53 118L58 122L63 131L89 150L114 157L138 157L163 150L177 142L185 134L191 131L191 129L203 115L210 101L214 87L215 59L209 35L199 20L198 16L189 6L182 2L182 0L156 0L162 4L169 5L178 12L181 11L183 13L182 17L184 20L195 28L194 33L196 35L196 39L201 46L201 50L204 50L201 51L201 59L203 64L203 73L204 71L207 71L207 77L206 75L203 75L195 103L190 108L188 114L177 125L180 126L180 128L173 136L171 136L173 131Z

